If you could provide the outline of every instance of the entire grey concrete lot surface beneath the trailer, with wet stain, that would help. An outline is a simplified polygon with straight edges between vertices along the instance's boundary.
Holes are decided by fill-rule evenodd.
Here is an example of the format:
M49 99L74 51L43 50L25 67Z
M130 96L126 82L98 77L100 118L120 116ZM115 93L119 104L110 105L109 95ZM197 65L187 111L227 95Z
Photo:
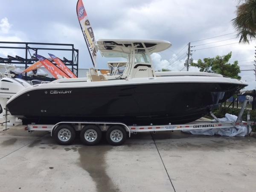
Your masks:
M79 137L78 137L79 138ZM140 133L124 145L58 145L47 132L0 131L0 191L255 191L256 139Z

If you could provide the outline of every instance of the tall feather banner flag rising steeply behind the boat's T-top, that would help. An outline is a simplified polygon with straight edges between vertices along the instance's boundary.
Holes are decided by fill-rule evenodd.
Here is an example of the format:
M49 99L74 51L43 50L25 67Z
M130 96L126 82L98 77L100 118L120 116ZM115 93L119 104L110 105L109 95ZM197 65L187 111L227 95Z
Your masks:
M97 54L97 49L95 46L95 38L93 34L93 29L90 26L90 21L88 20L87 13L84 9L84 4L82 0L77 1L76 5L76 13L77 17L81 26L81 30L84 35L84 40L86 42L87 48L90 52L90 57L93 61L93 66L94 68L96 67L96 54Z

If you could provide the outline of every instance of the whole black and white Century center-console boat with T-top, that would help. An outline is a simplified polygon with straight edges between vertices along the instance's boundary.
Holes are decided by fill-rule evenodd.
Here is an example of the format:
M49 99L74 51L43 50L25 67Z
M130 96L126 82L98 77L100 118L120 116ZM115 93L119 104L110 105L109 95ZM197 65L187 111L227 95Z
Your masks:
M65 79L26 87L7 102L23 123L119 121L127 125L192 122L224 102L246 83L213 73L156 73L150 55L168 41L99 40L105 57L127 58L122 75Z

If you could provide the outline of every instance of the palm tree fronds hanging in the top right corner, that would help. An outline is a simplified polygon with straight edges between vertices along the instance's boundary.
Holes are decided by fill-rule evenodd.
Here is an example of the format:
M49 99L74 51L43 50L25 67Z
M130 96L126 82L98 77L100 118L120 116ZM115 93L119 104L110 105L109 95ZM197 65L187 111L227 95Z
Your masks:
M256 0L239 0L239 4L232 24L240 37L239 43L249 44L256 39Z

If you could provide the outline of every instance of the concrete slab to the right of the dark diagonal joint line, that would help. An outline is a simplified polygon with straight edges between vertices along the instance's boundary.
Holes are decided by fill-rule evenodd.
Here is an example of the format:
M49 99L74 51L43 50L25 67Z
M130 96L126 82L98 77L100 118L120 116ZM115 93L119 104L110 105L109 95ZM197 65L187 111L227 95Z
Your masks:
M256 139L155 135L177 192L256 191Z

